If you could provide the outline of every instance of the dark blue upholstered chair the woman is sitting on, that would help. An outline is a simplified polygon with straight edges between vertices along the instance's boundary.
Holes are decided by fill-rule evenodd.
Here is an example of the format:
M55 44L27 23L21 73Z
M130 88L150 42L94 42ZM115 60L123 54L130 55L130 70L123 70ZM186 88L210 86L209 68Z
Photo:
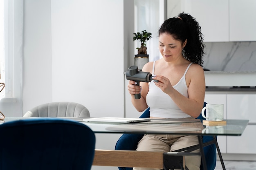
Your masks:
M206 103L204 102L204 107ZM149 108L147 108L144 113L140 116L141 118L149 118ZM204 119L202 115L197 119L201 119L201 121ZM117 141L117 144L115 146L115 150L136 150L137 144L139 140L143 137L143 134L123 134L119 140ZM212 141L212 136L203 136L202 141ZM207 164L207 170L214 170L216 166L216 145L211 144L209 146L204 147L204 157ZM143 159L143 158L141 158ZM119 170L132 170L132 168L127 167L118 167ZM200 170L203 170L203 166L201 163Z

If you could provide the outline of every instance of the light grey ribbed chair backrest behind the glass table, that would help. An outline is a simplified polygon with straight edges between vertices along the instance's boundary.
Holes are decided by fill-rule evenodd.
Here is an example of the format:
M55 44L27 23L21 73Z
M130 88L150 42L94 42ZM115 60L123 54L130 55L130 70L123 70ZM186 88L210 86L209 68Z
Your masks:
M82 104L52 102L32 108L23 117L90 117L90 112Z

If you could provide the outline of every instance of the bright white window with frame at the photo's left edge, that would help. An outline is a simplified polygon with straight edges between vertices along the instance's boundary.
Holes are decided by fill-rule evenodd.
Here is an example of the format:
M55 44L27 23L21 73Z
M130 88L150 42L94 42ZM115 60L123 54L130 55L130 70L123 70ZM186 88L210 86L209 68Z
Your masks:
M15 9L15 11L13 9ZM14 17L16 17L17 23L13 22ZM21 22L18 20L19 18L23 18L23 0L15 1L15 3L14 0L0 0L0 82L5 83L5 88L0 93L0 99L4 97L5 101L14 96L13 77L17 75L14 68L18 70L22 67L21 54L17 54L16 57L18 59L14 58L14 54L17 53L17 50L14 48L17 44L16 42L22 42L22 35L19 34L23 33L22 29L20 29L23 23L22 20ZM16 29L13 29L14 26L16 26ZM17 38L14 38L14 34L16 34ZM15 62L15 60L17 60L17 62ZM20 77L18 77L18 81L16 81L19 85L21 82ZM17 88L16 91L17 94L20 93L20 89Z

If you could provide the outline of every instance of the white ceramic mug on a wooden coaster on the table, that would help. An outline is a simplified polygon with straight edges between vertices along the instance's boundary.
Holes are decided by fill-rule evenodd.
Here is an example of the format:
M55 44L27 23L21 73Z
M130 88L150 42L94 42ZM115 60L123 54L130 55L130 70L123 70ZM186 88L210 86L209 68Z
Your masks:
M204 115L206 110L206 115ZM202 109L202 117L207 121L223 121L224 117L224 105L223 104L206 104Z

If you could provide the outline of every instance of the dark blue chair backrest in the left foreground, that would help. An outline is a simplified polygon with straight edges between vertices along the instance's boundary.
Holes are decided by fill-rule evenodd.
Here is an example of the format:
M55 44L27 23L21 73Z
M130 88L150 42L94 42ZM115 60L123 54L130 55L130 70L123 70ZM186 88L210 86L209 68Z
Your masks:
M30 118L0 125L0 170L90 170L95 135L85 124Z

